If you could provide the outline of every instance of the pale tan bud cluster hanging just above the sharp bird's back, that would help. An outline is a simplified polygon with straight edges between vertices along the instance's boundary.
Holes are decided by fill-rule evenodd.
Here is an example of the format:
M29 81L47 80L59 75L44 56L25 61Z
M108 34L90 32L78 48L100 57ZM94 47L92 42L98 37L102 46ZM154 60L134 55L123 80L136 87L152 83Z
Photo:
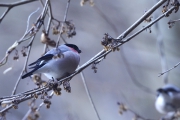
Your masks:
M41 43L47 44L47 45L49 45L51 47L55 47L56 46L56 42L54 40L51 40L48 37L48 35L46 34L45 30L42 31L40 41L41 41Z

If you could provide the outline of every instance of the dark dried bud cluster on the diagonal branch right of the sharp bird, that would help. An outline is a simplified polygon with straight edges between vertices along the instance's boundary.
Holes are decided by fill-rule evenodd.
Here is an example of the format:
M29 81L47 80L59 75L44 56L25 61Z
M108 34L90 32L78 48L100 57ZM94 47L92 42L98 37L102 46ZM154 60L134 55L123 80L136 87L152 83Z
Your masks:
M104 34L105 37L103 38L103 40L101 41L101 44L104 46L104 49L106 51L108 50L112 50L112 51L119 51L119 48L116 47L119 43L122 43L122 41L120 39L114 39L111 36L108 35L108 33Z

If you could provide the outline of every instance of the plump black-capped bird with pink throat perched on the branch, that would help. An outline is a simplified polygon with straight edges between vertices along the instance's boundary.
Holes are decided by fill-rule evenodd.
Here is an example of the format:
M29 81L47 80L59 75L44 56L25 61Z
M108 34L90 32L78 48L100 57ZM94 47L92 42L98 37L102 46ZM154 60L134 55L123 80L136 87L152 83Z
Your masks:
M61 79L73 73L79 65L81 50L75 44L63 44L29 64L32 69L23 75L24 79L33 74L43 73L48 79ZM55 56L62 55L60 58Z

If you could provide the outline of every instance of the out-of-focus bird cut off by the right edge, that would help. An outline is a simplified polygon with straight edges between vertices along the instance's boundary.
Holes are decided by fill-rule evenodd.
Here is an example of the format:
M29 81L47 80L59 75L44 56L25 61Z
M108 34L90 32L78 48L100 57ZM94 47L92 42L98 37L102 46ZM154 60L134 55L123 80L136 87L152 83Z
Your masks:
M167 84L157 90L155 107L159 113L167 114L180 109L180 88Z

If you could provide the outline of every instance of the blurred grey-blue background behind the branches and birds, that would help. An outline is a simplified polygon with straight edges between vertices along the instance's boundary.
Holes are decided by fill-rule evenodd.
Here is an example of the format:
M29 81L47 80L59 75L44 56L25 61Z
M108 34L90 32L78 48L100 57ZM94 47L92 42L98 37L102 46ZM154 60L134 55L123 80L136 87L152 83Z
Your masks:
M15 0L1 0L0 3L12 3ZM82 50L80 65L88 61L91 57L103 49L100 44L104 33L109 33L116 38L139 19L145 11L150 9L156 0L94 0L94 7L88 3L80 6L80 0L72 0L68 11L67 20L73 20L77 35L66 39L68 43L74 43ZM53 15L58 20L63 20L67 0L51 0ZM30 18L30 25L36 21L42 12L39 1L14 7L7 14L0 24L0 58L5 55L6 50L16 40L19 40L26 30L28 16L37 8L40 10ZM6 8L0 8L2 15ZM152 16L162 14L162 7ZM144 31L128 43L121 46L120 51L110 53L106 59L97 65L97 73L86 68L83 72L87 85L97 108L101 120L129 120L133 114L125 112L119 114L117 102L122 102L144 118L159 119L159 114L154 102L156 89L164 85L161 73L161 56L157 38L161 35L164 42L164 52L168 68L180 62L180 34L179 22L171 29L167 22L171 19L178 19L179 13L160 20L156 27L151 27L151 33ZM48 19L46 19L47 22ZM45 24L46 24L45 22ZM141 24L136 30L141 29L147 23ZM33 43L32 52L28 63L33 62L43 53L44 45L40 42L41 31L37 34ZM135 31L133 31L135 32ZM57 40L57 35L52 35L51 39ZM25 58L19 50L19 60L13 60L14 52L10 55L6 65L0 67L0 96L9 96L12 93L15 82L23 68ZM61 44L63 42L61 41ZM3 74L3 71L13 67L11 71ZM168 75L169 83L180 87L178 74L180 67L172 70ZM134 81L138 81L152 92L147 92ZM18 87L17 93L34 88L34 83L29 79L23 79ZM76 75L71 80L71 93L62 91L61 96L54 96L51 100L50 109L43 106L40 109L40 120L97 120L97 116L88 100L80 75ZM41 100L37 101L37 106ZM20 120L28 111L28 101L20 104L17 110L10 110L7 113L7 120Z

